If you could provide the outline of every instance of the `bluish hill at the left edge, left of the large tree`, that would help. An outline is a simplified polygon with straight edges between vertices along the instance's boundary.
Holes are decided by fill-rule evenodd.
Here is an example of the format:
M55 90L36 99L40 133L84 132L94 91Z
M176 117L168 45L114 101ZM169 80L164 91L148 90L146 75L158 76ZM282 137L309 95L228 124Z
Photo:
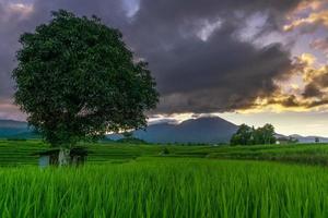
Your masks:
M33 130L26 122L14 120L0 120L0 137L23 137L33 135Z

